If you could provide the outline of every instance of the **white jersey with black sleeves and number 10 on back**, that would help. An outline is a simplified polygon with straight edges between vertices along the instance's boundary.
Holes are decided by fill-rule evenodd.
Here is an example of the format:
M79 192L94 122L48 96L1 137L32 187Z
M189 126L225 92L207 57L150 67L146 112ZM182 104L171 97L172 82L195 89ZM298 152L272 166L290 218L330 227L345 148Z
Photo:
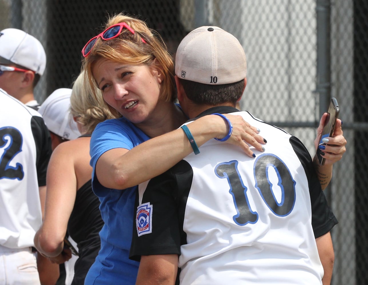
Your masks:
M182 285L322 284L315 237L337 220L307 149L248 112L236 114L261 130L265 152L250 158L212 139L139 185L132 259L178 254Z

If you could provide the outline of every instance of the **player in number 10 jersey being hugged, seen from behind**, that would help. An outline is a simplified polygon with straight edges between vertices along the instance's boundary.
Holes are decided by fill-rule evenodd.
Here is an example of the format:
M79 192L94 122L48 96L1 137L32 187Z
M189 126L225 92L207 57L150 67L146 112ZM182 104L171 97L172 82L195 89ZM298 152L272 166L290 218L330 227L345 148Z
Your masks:
M136 284L322 284L316 238L337 220L300 140L235 108L246 73L243 47L218 27L181 41L175 77L194 152L139 185ZM229 134L198 148L186 125L207 114L223 117ZM223 114L259 128L265 151L254 149L252 159L227 144L232 126Z

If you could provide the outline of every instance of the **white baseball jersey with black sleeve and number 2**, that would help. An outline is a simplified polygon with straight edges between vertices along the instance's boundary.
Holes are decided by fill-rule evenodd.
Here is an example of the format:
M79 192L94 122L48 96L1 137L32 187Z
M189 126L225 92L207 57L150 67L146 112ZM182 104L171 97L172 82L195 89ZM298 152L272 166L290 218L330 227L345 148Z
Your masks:
M42 223L50 134L42 117L0 89L0 245L33 246Z

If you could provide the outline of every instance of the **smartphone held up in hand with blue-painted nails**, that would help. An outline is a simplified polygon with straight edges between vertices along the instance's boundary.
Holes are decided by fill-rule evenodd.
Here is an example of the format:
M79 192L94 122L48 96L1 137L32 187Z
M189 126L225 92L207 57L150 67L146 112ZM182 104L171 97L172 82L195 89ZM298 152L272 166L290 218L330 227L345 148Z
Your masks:
M331 98L330 106L328 108L328 116L326 117L325 125L323 126L323 131L321 138L319 139L319 144L317 148L317 157L319 164L324 165L326 159L321 156L321 151L319 149L320 145L326 145L326 143L322 142L323 138L328 138L333 136L333 130L335 129L336 120L339 117L339 104L337 103L336 98Z

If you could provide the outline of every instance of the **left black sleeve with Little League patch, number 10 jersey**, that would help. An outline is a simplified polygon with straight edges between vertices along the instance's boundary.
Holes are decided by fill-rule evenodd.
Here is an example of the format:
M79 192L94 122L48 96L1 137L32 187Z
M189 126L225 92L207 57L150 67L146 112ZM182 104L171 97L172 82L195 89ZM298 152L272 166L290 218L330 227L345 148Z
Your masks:
M141 194L139 205L137 194L130 259L139 261L142 255L177 254L180 255L180 229L176 204L177 187L173 168L149 180ZM139 193L141 193L139 189ZM147 211L143 219L139 218L138 206L145 205ZM149 215L151 215L151 220ZM138 236L138 224L148 231ZM143 227L143 226L142 226Z

